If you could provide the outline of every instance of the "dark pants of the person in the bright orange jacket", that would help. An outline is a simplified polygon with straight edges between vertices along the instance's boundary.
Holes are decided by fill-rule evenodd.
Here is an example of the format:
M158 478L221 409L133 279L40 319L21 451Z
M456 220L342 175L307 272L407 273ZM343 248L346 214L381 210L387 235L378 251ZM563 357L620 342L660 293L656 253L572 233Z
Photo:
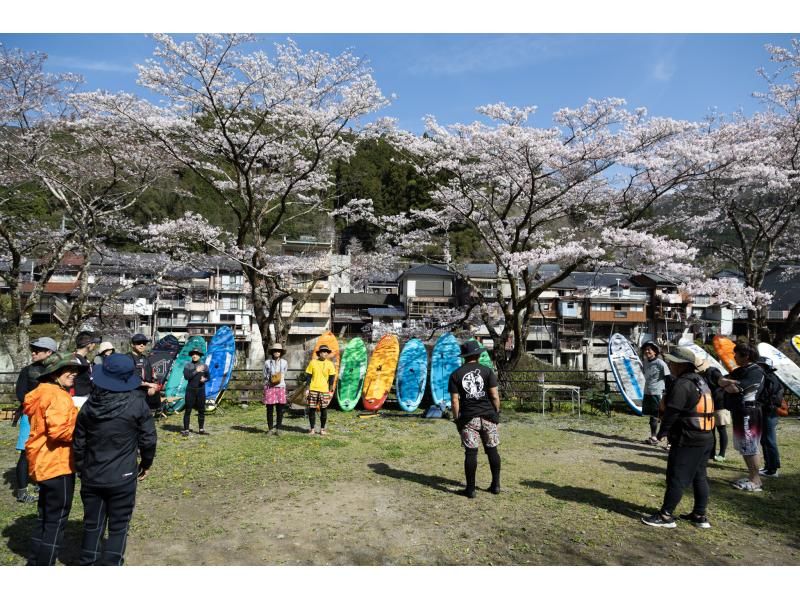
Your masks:
M74 473L39 482L38 521L31 540L29 565L55 564L74 494Z

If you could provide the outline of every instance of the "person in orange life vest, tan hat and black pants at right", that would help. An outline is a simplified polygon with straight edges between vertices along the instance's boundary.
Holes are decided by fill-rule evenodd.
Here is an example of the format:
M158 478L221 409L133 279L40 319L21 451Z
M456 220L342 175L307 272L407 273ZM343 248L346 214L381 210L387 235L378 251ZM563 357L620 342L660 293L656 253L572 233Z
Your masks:
M664 399L664 415L656 437L666 437L670 444L667 489L659 512L642 517L642 522L654 527L675 527L675 508L684 489L692 486L694 507L680 518L695 527L709 528L706 465L714 450L714 399L696 371L704 360L688 347L673 347L664 359L674 383Z

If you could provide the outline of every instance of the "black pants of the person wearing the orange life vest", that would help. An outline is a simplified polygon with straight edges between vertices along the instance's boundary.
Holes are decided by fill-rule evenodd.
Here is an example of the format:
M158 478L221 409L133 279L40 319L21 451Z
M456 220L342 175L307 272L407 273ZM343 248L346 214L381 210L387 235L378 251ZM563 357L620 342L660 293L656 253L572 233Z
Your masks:
M664 493L662 513L675 514L675 508L683 497L685 488L692 486L694 493L694 508L696 515L705 515L708 506L708 478L706 465L713 444L709 439L706 446L676 446L672 445L667 458L667 491Z

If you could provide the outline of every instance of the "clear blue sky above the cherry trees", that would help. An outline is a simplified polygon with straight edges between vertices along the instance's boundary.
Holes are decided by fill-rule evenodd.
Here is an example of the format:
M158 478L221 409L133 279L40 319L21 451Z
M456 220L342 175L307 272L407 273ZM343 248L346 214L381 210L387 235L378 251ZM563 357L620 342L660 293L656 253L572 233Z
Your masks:
M287 36L303 49L338 54L346 48L369 59L385 95L382 114L421 132L433 114L444 124L469 122L481 104L536 105L533 122L587 98L622 97L650 114L701 119L710 110L758 108L751 94L764 89L764 44L787 45L790 34L266 34L271 49ZM183 36L182 36L183 37ZM795 35L795 37L798 37ZM8 47L42 50L48 68L72 71L85 89L144 90L135 64L152 53L142 34L0 33Z

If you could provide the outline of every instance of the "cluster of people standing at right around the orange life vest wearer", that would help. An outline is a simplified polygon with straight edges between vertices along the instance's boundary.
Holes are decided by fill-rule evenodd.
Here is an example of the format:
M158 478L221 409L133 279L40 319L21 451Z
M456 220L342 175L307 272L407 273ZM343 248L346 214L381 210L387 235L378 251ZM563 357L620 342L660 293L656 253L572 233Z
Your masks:
M675 509L689 486L694 494L692 510L680 518L700 528L711 527L708 506L707 463L724 462L727 428L733 427L733 445L747 466L747 477L733 481L737 490L761 492L761 477L778 477L777 413L783 387L768 360L756 349L737 343L733 355L737 368L728 375L688 347L674 347L661 356L659 347L645 343L645 390L642 413L650 416L647 444L666 439L667 488L661 509L642 522L656 527L675 527ZM762 428L767 423L767 433ZM659 425L660 424L660 425ZM719 435L716 451L714 430ZM760 467L759 447L764 454Z

